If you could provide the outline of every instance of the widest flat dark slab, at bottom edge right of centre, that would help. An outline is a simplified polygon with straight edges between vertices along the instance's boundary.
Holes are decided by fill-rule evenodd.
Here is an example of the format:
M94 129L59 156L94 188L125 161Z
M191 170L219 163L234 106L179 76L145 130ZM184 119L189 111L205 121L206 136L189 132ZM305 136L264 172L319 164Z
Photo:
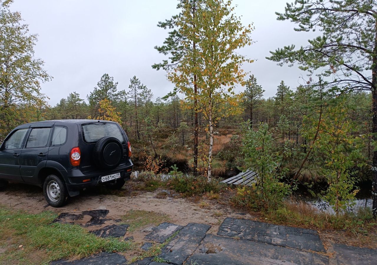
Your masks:
M186 264L195 262L200 265L327 265L329 260L320 253L208 234Z

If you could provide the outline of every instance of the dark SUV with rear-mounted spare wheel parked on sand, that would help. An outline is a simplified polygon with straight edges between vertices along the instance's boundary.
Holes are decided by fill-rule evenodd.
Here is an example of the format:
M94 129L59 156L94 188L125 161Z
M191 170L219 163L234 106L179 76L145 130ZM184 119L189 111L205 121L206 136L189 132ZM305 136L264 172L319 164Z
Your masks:
M8 181L43 188L49 205L98 184L120 189L132 172L129 139L118 123L54 120L23 124L0 147L0 189Z

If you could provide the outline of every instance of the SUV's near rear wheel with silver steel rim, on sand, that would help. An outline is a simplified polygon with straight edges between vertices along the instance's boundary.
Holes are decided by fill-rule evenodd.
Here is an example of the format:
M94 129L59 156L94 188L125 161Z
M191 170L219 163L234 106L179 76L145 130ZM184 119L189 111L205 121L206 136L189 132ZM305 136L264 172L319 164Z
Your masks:
M68 192L64 182L56 175L49 175L43 182L44 198L52 207L62 207L67 202Z

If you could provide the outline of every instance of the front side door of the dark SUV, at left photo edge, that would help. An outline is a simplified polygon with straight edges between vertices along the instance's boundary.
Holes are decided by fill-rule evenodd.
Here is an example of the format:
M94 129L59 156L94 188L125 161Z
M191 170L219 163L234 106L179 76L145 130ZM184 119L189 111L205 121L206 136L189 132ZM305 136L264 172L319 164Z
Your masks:
M20 153L28 128L19 129L8 136L0 150L0 177L22 181L20 174Z

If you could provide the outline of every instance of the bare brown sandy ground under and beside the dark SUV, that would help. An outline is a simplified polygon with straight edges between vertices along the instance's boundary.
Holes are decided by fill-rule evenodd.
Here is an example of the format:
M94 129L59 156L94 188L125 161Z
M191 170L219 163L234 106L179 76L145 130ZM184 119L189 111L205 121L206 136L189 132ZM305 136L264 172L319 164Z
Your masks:
M196 200L181 198L173 193L166 197L158 196L163 189L158 188L153 192L133 191L134 182L126 183L127 192L123 196L98 194L98 189L83 191L79 196L71 198L69 203L61 208L54 208L47 204L42 189L23 184L9 184L6 191L0 192L0 204L15 209L25 210L29 213L41 211L54 211L56 213L75 213L87 210L107 209L107 218L120 219L129 210L154 211L167 214L172 223L187 225L191 222L209 224L209 233L216 234L219 225L226 217L254 219L248 213L237 212L226 204L217 200L209 200L205 196ZM194 202L198 201L198 202ZM208 203L206 207L200 207L199 202ZM147 226L148 227L148 226ZM95 227L94 227L95 228ZM136 242L142 242L145 234L149 233L146 227L135 230L127 236L133 236Z

